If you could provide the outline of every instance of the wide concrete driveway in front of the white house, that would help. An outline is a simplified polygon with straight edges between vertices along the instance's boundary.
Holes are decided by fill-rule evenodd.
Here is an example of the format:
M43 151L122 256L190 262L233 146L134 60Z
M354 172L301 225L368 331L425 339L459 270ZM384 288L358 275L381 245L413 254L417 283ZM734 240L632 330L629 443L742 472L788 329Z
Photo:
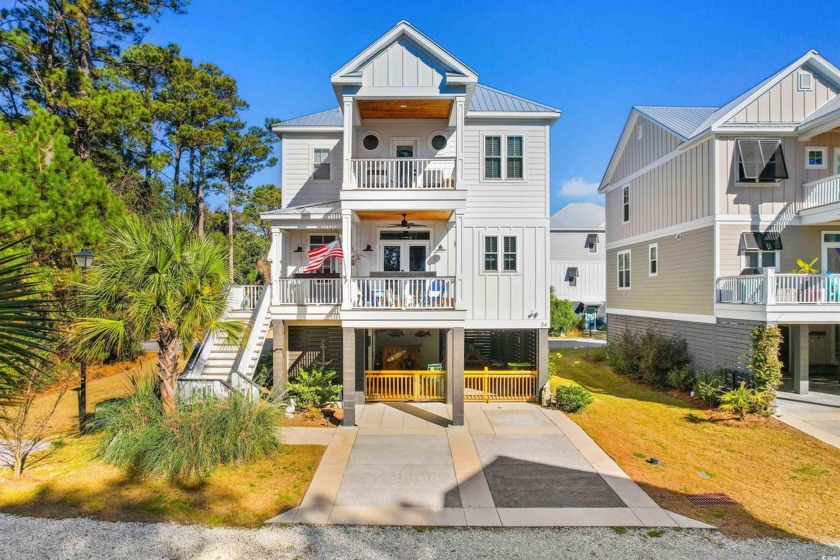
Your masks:
M468 403L450 426L443 404L360 408L358 427L313 433L331 437L309 490L269 523L711 528L661 509L557 410Z

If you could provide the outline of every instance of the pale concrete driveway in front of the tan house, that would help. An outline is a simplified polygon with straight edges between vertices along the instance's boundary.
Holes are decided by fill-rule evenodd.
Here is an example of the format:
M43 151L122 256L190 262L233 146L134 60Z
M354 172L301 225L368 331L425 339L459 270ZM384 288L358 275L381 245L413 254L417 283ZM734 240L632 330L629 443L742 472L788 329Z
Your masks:
M797 430L840 449L840 396L811 392L779 392L776 418Z

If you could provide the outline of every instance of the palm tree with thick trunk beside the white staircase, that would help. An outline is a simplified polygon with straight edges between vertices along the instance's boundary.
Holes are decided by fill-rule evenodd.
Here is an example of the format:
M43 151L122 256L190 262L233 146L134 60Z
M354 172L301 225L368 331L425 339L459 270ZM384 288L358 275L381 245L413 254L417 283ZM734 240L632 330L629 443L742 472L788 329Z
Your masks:
M225 248L201 238L185 218L155 223L125 218L111 228L99 265L82 287L82 305L95 310L77 322L88 354L121 352L130 341L158 341L161 402L175 410L178 347L185 353L208 332L240 337L243 325L224 321L228 268ZM116 318L113 318L116 317Z

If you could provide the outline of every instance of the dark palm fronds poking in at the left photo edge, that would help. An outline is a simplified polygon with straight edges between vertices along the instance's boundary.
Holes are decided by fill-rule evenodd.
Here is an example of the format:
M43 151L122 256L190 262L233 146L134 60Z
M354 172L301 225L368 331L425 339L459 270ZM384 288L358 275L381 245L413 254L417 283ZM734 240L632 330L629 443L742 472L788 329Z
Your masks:
M0 231L0 400L12 398L21 378L43 366L55 333L48 301L35 282L25 239L7 240Z

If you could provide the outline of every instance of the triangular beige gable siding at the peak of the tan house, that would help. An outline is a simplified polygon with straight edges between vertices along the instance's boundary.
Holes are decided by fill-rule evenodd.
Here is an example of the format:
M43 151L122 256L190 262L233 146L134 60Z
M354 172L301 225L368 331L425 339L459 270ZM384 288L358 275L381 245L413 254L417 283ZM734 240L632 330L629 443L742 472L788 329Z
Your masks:
M798 74L814 77L811 91L799 91ZM837 89L817 72L804 65L785 76L736 113L726 124L798 123L837 95Z

